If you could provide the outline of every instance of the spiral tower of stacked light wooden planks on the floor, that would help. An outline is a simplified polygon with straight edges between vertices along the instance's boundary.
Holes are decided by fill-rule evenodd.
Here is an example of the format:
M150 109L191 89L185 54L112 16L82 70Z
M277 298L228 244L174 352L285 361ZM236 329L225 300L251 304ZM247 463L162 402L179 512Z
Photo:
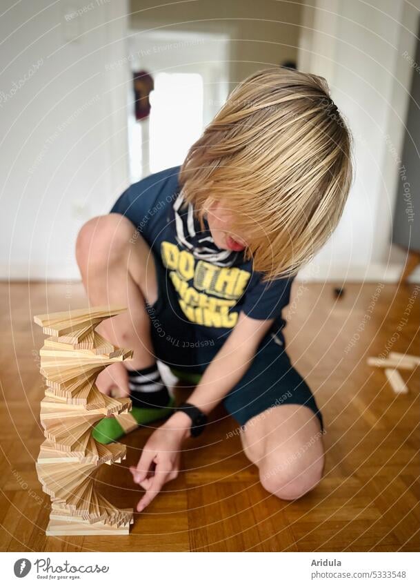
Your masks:
M121 462L126 447L102 445L92 427L103 417L128 412L128 398L102 395L95 385L99 372L128 360L132 351L116 348L94 331L103 320L125 311L92 307L34 316L46 338L40 372L46 379L41 401L44 440L37 460L38 478L52 507L47 535L128 534L132 509L117 509L97 491L101 464Z

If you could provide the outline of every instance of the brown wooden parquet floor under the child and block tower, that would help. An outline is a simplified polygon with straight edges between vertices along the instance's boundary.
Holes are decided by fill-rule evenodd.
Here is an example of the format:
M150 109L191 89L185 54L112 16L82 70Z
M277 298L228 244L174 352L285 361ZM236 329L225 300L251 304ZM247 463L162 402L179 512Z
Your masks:
M420 354L420 288L387 285L377 300L376 284L349 284L340 300L332 289L294 284L286 330L326 424L326 473L317 489L297 502L266 493L239 437L229 437L235 422L219 409L219 424L188 444L184 471L135 514L130 536L46 538L50 499L34 468L43 438L43 335L32 315L86 300L80 284L1 284L0 550L419 551L420 369L401 371L410 392L395 395L366 356L387 348ZM100 471L102 493L116 505L139 498L127 467L149 433L128 436L126 462Z

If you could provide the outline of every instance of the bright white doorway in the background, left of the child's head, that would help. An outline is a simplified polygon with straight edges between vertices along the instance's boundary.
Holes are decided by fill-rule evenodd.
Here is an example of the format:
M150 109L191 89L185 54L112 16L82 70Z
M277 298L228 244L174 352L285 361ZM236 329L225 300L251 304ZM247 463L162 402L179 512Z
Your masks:
M183 162L190 146L226 101L229 92L226 35L175 30L132 31L132 72L146 71L154 89L150 115L134 116L128 95L130 181Z

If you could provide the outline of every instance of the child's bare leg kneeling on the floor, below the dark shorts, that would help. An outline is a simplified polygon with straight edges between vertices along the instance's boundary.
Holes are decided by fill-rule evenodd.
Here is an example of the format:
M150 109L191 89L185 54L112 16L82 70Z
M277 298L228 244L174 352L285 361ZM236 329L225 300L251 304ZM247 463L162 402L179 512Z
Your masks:
M321 427L308 407L281 405L255 416L243 430L242 445L263 487L279 498L299 498L321 480Z

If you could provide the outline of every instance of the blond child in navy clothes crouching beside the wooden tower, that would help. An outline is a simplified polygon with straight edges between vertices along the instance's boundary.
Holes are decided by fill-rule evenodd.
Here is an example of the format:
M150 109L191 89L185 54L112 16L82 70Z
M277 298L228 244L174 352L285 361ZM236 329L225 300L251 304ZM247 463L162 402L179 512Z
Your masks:
M139 423L170 415L131 468L146 490L138 511L177 476L183 440L221 401L270 493L292 500L318 484L321 413L286 354L281 310L292 276L337 226L350 181L350 136L326 81L270 68L232 92L180 169L142 179L83 226L90 302L128 307L103 327L134 350L98 387L130 392ZM178 409L157 359L181 378L201 375ZM122 433L113 419L95 430L103 442Z

